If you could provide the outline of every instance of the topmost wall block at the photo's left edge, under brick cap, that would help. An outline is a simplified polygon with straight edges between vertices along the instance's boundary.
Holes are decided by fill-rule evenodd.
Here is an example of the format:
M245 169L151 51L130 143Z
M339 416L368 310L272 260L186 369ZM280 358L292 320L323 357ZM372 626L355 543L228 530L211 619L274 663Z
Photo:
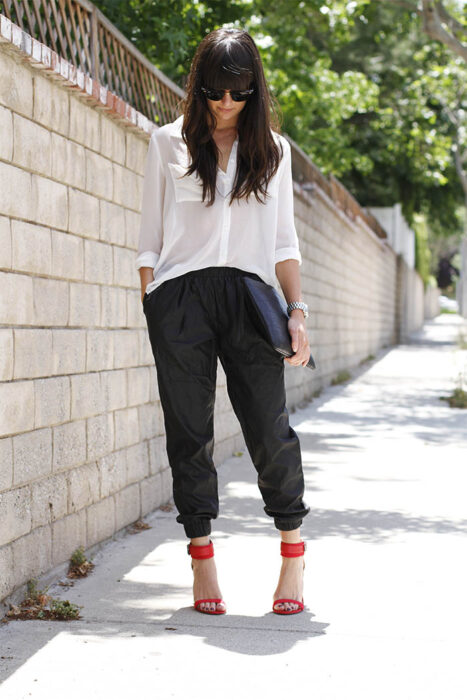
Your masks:
M0 104L19 112L26 117L32 116L32 71L21 63L17 56L2 51L0 70Z

